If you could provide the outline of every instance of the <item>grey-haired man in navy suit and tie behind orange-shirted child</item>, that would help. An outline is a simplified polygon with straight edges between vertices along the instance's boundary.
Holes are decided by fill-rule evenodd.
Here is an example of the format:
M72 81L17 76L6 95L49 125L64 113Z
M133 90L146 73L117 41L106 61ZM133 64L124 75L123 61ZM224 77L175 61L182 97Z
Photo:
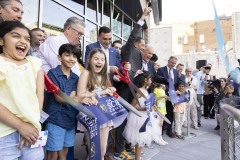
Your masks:
M158 76L164 77L166 80L168 80L169 77L172 77L174 86L175 86L175 84L178 83L178 81L180 81L178 72L176 69L174 69L174 67L176 66L176 63L177 63L177 58L174 56L171 56L168 59L168 64L164 67L159 68L157 71ZM169 85L167 84L166 85L166 94L167 95L169 95L168 90L169 90ZM171 124L164 123L164 125L167 127L167 135L169 137L173 138L174 134L172 133L172 122L173 122L173 104L172 104L172 102L170 102L170 101L166 102L166 109L167 109L166 117L169 119Z

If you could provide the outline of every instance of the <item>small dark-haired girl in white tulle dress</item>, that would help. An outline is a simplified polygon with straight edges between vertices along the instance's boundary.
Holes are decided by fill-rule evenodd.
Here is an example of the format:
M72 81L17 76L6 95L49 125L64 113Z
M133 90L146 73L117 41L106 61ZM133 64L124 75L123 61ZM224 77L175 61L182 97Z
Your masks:
M139 72L137 71L138 75L135 76L134 82L135 84L139 87L141 92L148 97L148 91L147 88L151 85L152 79L151 75L149 72L144 71L144 72ZM135 159L140 160L141 157L141 152L142 152L142 147L146 145L150 146L152 142L151 134L149 131L149 127L146 127L145 132L139 132L140 128L142 125L145 123L146 119L148 118L147 114L147 108L145 106L145 99L141 97L138 93L136 93L136 96L138 97L138 101L141 106L138 105L137 101L133 99L132 105L139 111L142 112L142 117L138 117L131 111L128 113L127 117L127 124L126 127L123 131L123 136L126 138L127 142L131 143L132 146L135 145ZM151 106L152 107L152 106Z

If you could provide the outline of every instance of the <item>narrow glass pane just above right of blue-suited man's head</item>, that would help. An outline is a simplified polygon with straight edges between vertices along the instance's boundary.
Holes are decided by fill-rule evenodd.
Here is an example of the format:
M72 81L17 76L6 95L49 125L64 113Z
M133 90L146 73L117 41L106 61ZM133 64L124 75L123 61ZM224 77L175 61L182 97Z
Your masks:
M113 11L112 31L119 36L122 36L122 13L116 8Z

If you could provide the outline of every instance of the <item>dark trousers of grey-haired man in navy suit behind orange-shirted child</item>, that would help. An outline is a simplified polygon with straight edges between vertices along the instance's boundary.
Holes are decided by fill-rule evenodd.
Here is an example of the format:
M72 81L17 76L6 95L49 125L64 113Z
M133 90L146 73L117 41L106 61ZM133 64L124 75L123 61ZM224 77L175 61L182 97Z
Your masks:
M167 133L169 133L169 132L172 132L172 123L173 123L173 105L170 101L166 101L166 110L167 110L166 117L171 122L171 124L168 124L164 121L163 125L164 125L164 128L167 129Z

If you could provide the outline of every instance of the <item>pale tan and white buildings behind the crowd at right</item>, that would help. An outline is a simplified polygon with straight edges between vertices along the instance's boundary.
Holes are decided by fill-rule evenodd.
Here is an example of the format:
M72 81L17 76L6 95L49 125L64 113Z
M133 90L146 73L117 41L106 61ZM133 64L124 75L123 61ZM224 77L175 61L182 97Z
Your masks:
M220 25L224 39L225 52L230 61L230 68L236 67L240 58L238 34L240 13L234 13L232 17L220 17ZM178 62L195 69L197 60L207 60L213 64L212 73L217 77L227 75L225 66L217 52L217 39L215 21L206 20L200 22L178 23L172 25L160 25L150 28L150 44L155 47L161 66L167 64L169 56L178 57ZM219 70L221 72L219 72Z

